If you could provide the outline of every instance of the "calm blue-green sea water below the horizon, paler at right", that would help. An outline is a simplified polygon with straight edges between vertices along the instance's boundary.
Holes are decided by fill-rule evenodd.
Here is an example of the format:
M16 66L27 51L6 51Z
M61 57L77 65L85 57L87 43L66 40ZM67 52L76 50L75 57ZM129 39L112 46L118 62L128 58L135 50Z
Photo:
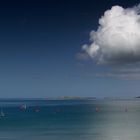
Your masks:
M1 100L0 106L0 140L140 140L140 100Z

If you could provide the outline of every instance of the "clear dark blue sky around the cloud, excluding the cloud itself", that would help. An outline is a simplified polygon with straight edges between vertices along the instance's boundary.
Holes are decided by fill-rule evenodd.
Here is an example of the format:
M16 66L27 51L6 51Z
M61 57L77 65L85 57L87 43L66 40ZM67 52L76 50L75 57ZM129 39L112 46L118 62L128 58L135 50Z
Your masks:
M105 10L138 3L0 1L0 97L139 95L138 80L92 76L106 68L75 57Z

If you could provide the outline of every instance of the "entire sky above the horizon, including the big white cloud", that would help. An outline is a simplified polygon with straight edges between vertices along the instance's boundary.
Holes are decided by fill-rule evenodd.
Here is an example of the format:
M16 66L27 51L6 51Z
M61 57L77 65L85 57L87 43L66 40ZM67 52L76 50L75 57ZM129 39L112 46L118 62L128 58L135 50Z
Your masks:
M139 96L138 4L0 1L0 98Z

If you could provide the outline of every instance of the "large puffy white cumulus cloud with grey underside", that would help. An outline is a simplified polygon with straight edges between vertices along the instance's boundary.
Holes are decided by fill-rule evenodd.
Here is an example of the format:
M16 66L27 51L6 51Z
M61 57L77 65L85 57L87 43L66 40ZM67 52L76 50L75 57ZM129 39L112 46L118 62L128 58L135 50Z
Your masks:
M90 33L90 43L82 49L99 64L139 62L139 9L113 6L107 10L99 19L97 31Z

